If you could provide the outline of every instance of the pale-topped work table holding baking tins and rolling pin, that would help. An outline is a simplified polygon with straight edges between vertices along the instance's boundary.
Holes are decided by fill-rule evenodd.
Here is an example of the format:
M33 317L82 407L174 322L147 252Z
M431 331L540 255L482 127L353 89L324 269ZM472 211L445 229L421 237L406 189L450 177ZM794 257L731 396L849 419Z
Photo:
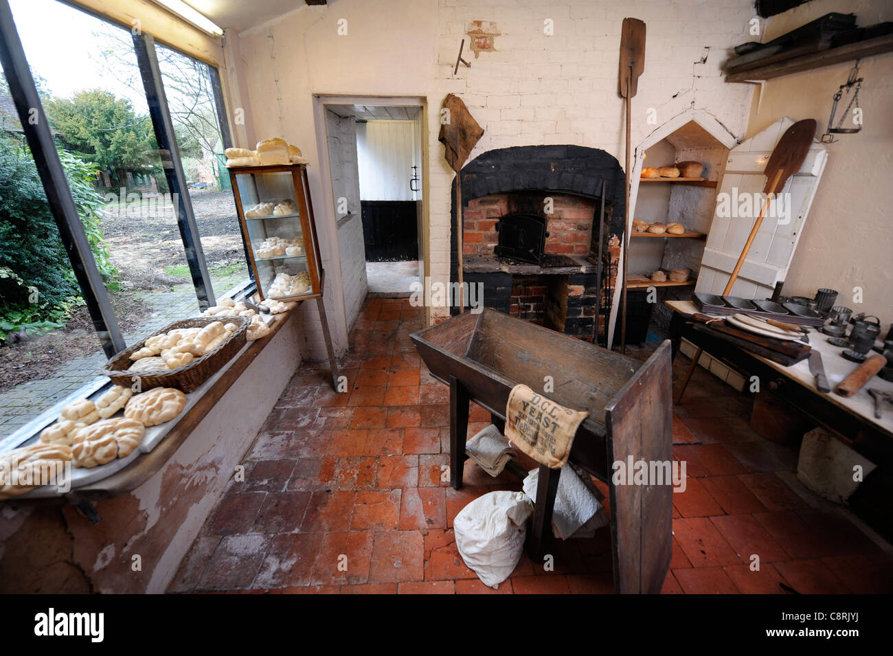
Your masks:
M874 417L874 399L868 394L869 388L876 388L893 394L893 383L878 377L872 378L859 392L850 398L834 393L839 382L859 365L845 360L842 349L828 344L828 337L816 328L809 330L809 345L822 353L822 364L831 391L819 392L815 387L815 377L809 370L809 361L785 367L777 362L766 360L754 353L748 353L721 339L698 332L691 328L686 318L697 312L691 301L666 301L673 311L671 341L673 355L679 349L682 338L699 346L712 357L725 361L747 374L747 378L757 376L760 389L769 389L782 401L804 412L825 428L842 436L857 452L880 465L880 461L893 462L893 405L882 407L880 419Z

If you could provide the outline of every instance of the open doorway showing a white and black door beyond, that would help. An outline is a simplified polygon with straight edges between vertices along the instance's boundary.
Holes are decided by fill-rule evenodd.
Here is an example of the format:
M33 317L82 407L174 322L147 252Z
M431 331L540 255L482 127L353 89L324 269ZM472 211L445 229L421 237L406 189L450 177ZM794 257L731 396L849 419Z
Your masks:
M405 297L423 272L422 107L376 102L323 105L332 192L339 221L359 212L363 252L347 256L369 293Z

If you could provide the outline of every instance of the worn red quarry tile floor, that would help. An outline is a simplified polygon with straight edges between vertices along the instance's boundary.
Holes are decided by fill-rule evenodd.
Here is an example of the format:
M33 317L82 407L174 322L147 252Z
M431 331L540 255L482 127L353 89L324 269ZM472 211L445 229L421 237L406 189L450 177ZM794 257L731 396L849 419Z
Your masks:
M302 365L242 462L245 480L230 482L171 592L613 592L608 527L555 544L550 571L524 554L498 590L466 567L453 519L481 494L521 483L469 461L463 489L448 486L447 386L410 342L419 328L421 310L406 300L367 299L341 361L346 393L332 391L325 363ZM687 367L680 356L677 384ZM796 452L756 434L749 407L704 370L674 406L673 457L689 478L673 494L663 593L893 592L893 560L842 513L791 487ZM469 436L488 420L472 405Z

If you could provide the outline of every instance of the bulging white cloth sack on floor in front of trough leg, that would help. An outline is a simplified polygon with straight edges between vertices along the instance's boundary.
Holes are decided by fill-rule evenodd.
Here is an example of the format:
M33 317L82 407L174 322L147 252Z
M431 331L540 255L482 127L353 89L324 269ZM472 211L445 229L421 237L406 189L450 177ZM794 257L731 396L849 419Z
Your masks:
M455 545L484 585L497 589L518 565L532 514L527 494L501 490L484 494L456 515Z

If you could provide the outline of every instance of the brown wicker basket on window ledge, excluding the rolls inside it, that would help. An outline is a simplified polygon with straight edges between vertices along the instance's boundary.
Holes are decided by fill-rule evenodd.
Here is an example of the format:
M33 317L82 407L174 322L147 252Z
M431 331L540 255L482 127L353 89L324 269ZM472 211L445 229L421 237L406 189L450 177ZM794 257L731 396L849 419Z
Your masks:
M171 370L128 371L128 367L133 364L133 361L130 360L130 353L141 349L149 337L162 335L175 328L204 328L215 321L241 325L211 353L205 353L182 367ZM247 317L196 317L195 319L174 321L170 326L154 332L138 344L117 353L105 363L105 367L100 373L112 378L115 385L129 387L133 383L133 377L138 376L139 385L143 390L153 387L176 387L183 392L192 392L219 371L246 344L246 334L250 323L251 320Z

